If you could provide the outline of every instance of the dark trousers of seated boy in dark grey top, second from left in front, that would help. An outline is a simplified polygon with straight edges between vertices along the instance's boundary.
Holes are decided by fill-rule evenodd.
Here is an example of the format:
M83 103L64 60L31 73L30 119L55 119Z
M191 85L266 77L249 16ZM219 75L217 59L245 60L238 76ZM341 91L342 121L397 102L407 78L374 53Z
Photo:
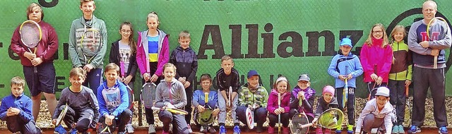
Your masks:
M59 111L63 111L66 105L61 105ZM94 111L93 109L86 109L83 111L74 111L71 107L68 107L68 111L66 112L66 116L64 116L63 121L68 128L72 128L73 123L77 123L76 130L80 133L84 133L88 130L88 128L95 127L95 123L93 123Z

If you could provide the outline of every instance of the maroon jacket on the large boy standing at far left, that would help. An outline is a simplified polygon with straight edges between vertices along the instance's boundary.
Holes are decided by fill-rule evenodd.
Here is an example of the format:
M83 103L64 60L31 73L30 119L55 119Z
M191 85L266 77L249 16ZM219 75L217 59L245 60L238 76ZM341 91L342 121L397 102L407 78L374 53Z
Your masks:
M42 30L42 38L39 44L37 44L37 47L35 47L35 49L37 49L36 57L40 57L43 63L53 62L54 54L58 50L57 32L55 32L52 25L45 23L43 20L38 24ZM30 52L30 50L28 50L28 48L20 41L19 28L20 25L14 30L13 37L11 37L11 50L20 56L20 63L22 63L23 66L32 66L31 61L23 56L25 51ZM34 49L31 50L34 51Z

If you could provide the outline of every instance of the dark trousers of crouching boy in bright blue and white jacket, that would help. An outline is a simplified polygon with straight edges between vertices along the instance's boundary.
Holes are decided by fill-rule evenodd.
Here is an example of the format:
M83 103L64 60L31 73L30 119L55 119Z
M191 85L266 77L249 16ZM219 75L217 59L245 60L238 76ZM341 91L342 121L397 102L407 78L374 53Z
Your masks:
M124 109L121 114L119 114L116 118L114 118L114 121L112 121L112 125L109 126L111 132L113 133L114 130L116 130L116 127L118 126L118 132L125 132L126 131L126 124L129 123L129 121L132 119L132 111L130 109ZM105 116L100 116L99 123L102 123L102 126L107 126L105 124ZM100 131L100 130L97 130Z

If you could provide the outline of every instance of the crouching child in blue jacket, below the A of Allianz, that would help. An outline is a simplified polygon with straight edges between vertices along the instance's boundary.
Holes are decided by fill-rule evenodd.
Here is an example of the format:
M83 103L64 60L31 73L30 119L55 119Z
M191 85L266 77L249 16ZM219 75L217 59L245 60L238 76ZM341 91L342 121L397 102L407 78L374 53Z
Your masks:
M196 124L198 123L198 114L201 112L205 112L205 109L212 110L213 116L218 116L220 109L218 108L218 95L216 91L210 91L210 87L212 86L212 78L209 74L201 75L201 90L196 90L193 94L192 104L196 109L194 110L194 121ZM208 106L206 105L205 93L208 92ZM217 133L215 128L210 124L209 126L201 126L199 130L200 133Z

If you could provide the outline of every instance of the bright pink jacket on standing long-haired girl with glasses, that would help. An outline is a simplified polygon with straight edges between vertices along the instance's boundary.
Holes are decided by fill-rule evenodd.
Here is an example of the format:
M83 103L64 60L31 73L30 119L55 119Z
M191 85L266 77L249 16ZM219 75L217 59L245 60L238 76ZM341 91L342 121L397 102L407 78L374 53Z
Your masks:
M383 83L388 83L389 71L391 71L391 63L393 61L393 50L388 44L385 48L381 48L383 39L375 39L372 37L372 45L364 43L361 48L362 68L364 69L364 83L373 82L370 75L374 73L376 66L376 75L383 78Z

